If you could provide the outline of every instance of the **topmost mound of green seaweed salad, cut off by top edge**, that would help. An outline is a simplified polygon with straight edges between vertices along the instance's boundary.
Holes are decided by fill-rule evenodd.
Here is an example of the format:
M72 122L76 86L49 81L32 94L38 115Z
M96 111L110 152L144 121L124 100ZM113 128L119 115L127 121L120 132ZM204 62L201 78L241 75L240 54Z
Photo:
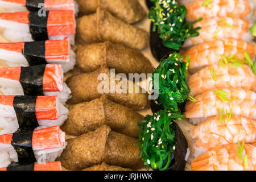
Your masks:
M154 23L153 31L158 31L164 46L179 50L187 38L199 36L200 27L193 28L191 22L185 20L187 9L176 0L151 0L155 3L148 13Z

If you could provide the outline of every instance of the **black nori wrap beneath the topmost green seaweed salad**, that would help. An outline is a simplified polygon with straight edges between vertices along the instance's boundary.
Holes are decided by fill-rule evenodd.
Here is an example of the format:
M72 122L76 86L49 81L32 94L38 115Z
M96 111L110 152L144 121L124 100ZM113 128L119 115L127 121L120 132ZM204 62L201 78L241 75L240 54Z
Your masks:
M157 61L160 62L160 60L167 55L170 55L172 52L178 52L174 49L170 49L164 46L163 40L160 38L160 35L158 34L158 28L156 27L156 30L153 31L154 24L151 22L150 24L150 49L152 52L152 55L155 57Z

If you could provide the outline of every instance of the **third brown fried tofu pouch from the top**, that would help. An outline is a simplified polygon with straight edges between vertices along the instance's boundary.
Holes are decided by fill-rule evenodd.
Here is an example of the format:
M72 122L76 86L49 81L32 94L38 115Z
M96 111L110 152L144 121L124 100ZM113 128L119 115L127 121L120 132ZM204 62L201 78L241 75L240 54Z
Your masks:
M101 66L114 68L117 73L152 73L150 61L137 49L109 41L79 45L75 48L77 66L84 72L96 71Z

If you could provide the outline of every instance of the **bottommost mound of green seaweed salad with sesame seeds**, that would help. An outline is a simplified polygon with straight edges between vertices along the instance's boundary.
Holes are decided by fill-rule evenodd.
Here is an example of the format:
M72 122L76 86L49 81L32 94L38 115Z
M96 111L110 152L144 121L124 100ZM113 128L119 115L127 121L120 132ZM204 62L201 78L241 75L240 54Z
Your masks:
M175 147L177 145L173 125L175 119L184 118L184 115L168 110L160 110L153 115L146 115L145 119L138 123L139 147L144 166L148 169L166 170L171 163Z

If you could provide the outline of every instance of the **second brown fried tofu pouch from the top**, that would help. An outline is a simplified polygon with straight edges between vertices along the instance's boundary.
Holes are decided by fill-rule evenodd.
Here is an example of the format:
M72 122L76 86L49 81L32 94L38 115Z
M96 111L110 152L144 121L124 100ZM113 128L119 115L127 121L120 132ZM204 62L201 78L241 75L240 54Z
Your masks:
M77 43L88 44L107 40L135 49L149 45L148 32L115 18L100 7L96 13L77 19Z

